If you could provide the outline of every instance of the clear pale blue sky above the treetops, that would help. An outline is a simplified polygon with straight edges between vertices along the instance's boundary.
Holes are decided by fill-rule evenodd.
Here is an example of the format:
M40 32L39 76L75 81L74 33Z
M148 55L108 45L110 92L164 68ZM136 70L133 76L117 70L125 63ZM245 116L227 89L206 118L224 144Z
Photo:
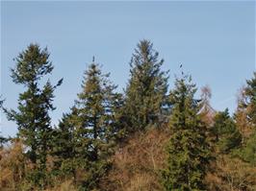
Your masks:
M236 108L236 94L252 77L255 63L255 2L7 2L1 1L1 95L16 108L24 86L13 84L13 58L30 43L48 47L55 66L51 113L58 124L81 91L92 57L118 84L129 79L129 61L141 39L149 39L169 70L169 87L180 75L192 75L198 89L208 84L218 110ZM199 95L199 93L198 93ZM0 131L13 136L16 125L1 114Z

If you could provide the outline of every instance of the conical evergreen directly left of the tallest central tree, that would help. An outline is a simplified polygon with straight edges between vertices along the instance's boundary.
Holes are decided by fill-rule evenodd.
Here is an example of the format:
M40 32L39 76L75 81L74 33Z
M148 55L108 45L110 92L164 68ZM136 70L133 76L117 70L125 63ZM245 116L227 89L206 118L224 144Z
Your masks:
M83 91L78 94L76 144L78 157L87 160L86 177L82 185L91 190L108 167L108 156L113 154L118 127L115 113L119 107L119 94L115 85L103 75L97 64L92 63L85 73Z

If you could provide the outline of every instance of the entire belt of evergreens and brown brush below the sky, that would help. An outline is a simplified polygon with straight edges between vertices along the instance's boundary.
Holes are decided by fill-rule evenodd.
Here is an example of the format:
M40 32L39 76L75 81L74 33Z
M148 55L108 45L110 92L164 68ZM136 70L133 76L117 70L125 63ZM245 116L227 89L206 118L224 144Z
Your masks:
M52 127L63 79L45 81L49 55L30 44L14 60L13 83L25 90L16 109L0 102L18 128L0 136L1 190L256 190L255 72L230 116L211 107L209 86L195 98L183 71L168 91L164 60L141 40L124 93L93 58L73 106Z

